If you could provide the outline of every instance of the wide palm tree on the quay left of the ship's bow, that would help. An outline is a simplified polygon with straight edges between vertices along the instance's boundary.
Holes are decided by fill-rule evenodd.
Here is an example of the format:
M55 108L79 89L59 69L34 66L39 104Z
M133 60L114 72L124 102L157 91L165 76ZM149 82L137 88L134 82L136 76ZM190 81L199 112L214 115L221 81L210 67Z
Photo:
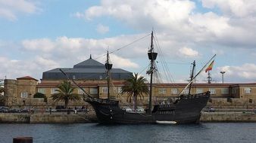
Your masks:
M52 100L55 102L64 102L64 108L67 108L69 101L79 101L81 99L80 94L73 93L76 87L73 87L70 81L63 81L63 83L58 85L58 93L52 94Z

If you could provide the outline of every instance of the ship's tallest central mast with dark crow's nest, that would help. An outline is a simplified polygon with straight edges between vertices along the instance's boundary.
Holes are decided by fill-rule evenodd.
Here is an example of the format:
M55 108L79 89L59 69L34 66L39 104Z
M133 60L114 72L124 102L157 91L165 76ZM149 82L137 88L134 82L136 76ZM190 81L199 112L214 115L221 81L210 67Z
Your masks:
M148 50L148 59L150 59L150 69L147 71L147 74L150 74L150 88L149 88L149 103L148 103L148 112L151 114L151 106L152 106L152 82L153 82L153 73L155 71L155 59L157 59L158 53L154 52L154 44L153 44L153 31L151 32L151 46Z

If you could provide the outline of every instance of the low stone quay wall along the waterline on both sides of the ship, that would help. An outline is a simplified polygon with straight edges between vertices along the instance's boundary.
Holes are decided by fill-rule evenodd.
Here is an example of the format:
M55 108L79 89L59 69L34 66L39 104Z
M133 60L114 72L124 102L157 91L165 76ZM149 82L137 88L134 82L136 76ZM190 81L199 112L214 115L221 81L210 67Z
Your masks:
M254 112L203 112L200 121L254 122ZM0 123L97 123L95 114L10 114L0 113Z

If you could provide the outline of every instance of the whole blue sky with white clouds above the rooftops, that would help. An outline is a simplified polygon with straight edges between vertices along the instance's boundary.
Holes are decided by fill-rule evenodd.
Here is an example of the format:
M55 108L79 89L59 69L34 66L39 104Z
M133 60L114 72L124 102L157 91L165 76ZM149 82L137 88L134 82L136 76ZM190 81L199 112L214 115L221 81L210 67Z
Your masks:
M0 0L0 79L39 80L90 54L104 63L107 50L114 68L148 78L152 29L163 81L185 83L194 60L199 71L217 54L213 83L220 71L225 83L256 82L256 0Z

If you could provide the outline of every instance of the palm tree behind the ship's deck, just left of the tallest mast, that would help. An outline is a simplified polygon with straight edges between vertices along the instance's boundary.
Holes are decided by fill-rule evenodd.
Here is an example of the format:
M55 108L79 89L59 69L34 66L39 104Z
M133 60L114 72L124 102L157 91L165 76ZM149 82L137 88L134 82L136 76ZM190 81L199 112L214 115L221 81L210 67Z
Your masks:
M148 87L145 84L147 81L144 77L138 76L138 73L134 73L133 76L126 80L126 84L122 87L121 93L127 93L127 102L131 102L133 98L133 109L136 111L137 98L144 98L143 94L148 94Z

